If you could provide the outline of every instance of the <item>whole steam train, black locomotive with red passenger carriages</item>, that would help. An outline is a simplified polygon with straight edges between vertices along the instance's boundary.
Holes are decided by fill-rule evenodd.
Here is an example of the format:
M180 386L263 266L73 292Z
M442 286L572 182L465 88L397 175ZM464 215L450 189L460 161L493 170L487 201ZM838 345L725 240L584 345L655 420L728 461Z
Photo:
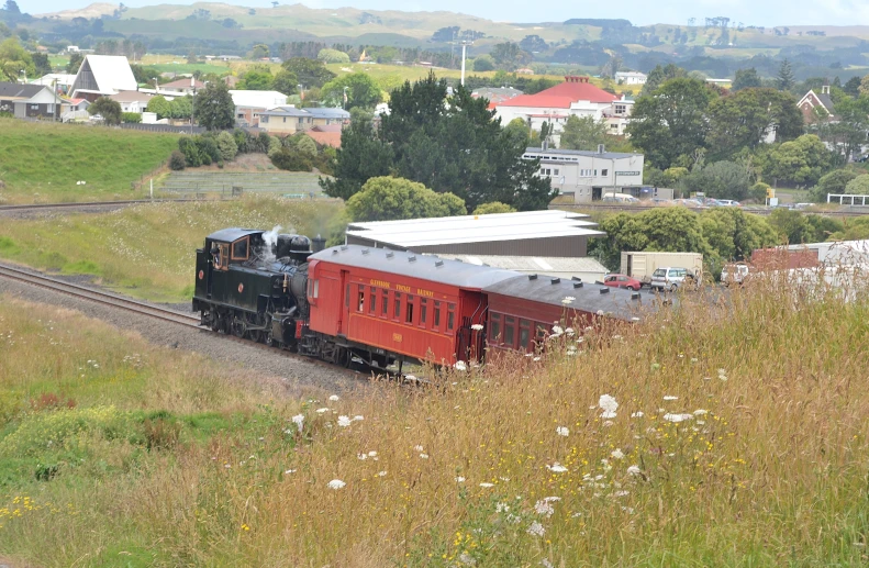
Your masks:
M600 282L238 227L197 249L192 299L215 332L382 370L534 353L559 327L631 324L642 307L639 292Z

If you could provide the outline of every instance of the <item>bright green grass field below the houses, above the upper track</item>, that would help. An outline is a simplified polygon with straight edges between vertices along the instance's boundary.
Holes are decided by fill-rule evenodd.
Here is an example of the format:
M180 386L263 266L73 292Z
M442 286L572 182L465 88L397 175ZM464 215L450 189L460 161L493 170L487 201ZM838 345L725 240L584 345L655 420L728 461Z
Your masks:
M175 134L14 119L0 119L0 132L4 203L141 197L131 183L159 167L178 144Z

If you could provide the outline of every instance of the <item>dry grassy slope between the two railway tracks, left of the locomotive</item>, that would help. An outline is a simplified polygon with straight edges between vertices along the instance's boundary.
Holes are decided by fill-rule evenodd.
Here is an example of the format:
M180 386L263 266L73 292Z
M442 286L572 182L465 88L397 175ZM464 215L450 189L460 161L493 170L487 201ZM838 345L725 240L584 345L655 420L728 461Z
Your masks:
M245 197L135 205L111 213L4 220L0 258L97 281L137 298L180 302L192 296L196 249L227 226L324 236L339 203Z

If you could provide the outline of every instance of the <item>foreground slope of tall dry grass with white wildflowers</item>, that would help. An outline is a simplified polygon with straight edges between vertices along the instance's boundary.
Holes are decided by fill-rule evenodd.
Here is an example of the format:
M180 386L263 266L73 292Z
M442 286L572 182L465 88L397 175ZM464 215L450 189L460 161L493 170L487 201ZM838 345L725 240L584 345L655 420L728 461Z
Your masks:
M789 292L686 299L634 330L562 335L539 361L300 406L4 300L0 550L38 566L862 565L869 305Z

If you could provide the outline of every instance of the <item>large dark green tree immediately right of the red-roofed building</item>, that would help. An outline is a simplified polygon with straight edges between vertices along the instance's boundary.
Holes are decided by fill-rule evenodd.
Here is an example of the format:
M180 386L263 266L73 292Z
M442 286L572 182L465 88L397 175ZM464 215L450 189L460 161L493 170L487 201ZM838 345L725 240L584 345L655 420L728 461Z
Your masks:
M706 147L706 109L714 98L703 81L670 79L634 104L626 133L640 148L646 163L670 167L679 156Z

